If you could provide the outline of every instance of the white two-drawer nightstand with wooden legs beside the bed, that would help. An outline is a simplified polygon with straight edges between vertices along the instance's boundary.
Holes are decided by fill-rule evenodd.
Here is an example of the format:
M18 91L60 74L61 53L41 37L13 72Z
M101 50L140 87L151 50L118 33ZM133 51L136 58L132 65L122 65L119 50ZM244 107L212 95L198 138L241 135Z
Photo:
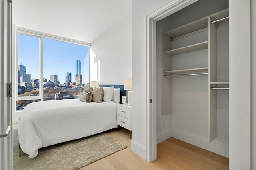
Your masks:
M124 127L130 131L130 139L132 139L132 106L127 104L117 105L117 131L119 126Z

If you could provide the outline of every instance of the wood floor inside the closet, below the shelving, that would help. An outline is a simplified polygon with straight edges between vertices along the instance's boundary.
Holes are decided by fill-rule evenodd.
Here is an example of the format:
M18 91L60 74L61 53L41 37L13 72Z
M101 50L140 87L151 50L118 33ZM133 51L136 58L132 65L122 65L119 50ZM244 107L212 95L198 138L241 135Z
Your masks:
M229 159L173 137L157 145L157 160L174 170L228 170Z

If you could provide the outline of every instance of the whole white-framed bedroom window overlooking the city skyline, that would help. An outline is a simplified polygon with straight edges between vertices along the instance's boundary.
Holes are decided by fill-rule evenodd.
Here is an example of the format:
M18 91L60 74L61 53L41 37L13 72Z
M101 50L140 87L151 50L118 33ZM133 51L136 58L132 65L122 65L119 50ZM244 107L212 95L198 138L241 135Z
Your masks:
M43 100L79 98L89 86L89 47L17 31L16 111Z

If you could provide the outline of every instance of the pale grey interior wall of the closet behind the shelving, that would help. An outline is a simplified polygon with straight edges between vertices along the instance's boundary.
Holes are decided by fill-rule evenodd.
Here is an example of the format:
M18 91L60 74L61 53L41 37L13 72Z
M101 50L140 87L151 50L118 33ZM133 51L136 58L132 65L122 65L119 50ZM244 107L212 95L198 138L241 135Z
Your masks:
M208 143L208 75L172 77L170 113L162 115L162 33L228 8L228 0L200 0L157 22L157 133L158 143L175 137L228 157L228 90L217 90L217 135ZM208 40L208 31L172 41L184 47ZM228 22L217 27L217 81L228 81ZM170 45L170 44L169 44ZM163 47L165 48L165 47ZM170 69L208 67L208 49L175 55ZM167 83L163 81L163 83ZM168 82L170 84L170 82ZM213 86L227 86L213 84ZM168 97L167 97L168 98ZM169 100L169 99L168 99ZM172 106L172 107L171 107ZM166 111L165 111L166 112Z

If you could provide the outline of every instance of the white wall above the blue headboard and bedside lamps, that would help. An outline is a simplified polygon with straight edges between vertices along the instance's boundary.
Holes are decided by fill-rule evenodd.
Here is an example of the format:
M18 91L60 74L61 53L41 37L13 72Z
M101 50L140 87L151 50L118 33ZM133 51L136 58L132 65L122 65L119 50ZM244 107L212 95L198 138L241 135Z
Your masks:
M100 61L100 84L124 84L132 78L132 16L91 43Z

